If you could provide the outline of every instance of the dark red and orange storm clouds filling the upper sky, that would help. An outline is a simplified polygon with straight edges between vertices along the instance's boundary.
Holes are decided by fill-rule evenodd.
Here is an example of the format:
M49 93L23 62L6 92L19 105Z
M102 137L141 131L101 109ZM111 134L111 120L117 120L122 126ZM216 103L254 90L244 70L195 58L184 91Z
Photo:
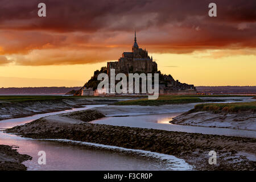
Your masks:
M46 18L37 15L40 2L46 3ZM87 51L89 62L104 61L93 60L89 52L127 49L135 27L139 46L151 52L255 48L255 1L214 1L214 18L208 16L210 2L1 0L0 54L63 48ZM112 52L105 59L121 54ZM88 63L81 55L67 64Z

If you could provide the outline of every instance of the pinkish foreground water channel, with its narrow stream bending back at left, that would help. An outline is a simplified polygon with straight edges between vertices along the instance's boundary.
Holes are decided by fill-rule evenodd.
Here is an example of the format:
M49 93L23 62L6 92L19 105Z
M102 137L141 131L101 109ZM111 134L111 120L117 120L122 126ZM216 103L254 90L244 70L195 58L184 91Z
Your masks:
M0 128L22 125L47 115L67 113L70 111L91 109L102 105L89 105L83 108L38 114L32 117L7 119L0 121ZM35 140L6 134L0 131L0 144L19 146L20 154L32 156L24 162L28 170L187 170L191 169L184 160L171 155L138 152L93 144ZM94 144L95 145L95 144ZM97 145L97 144L96 144ZM38 164L38 152L46 152L46 165Z

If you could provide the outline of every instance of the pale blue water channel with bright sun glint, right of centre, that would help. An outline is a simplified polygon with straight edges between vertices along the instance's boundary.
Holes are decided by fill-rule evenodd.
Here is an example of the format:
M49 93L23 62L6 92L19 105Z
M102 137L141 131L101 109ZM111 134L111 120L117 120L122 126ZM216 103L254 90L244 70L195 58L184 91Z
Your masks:
M180 114L181 113L133 115L129 117L106 117L106 118L97 119L95 121L92 121L91 123L114 125L114 126L141 127L145 129L158 129L158 130L167 130L167 131L183 131L187 133L202 133L202 134L256 138L256 131L174 125L169 123L169 121L171 121L172 118Z

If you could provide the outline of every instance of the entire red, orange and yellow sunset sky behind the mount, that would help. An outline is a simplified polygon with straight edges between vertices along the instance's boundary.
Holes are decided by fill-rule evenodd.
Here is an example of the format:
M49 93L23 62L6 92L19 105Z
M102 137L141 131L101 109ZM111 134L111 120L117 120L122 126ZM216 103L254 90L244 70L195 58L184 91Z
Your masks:
M131 51L134 28L158 69L181 82L256 85L254 0L0 0L0 87L82 86Z

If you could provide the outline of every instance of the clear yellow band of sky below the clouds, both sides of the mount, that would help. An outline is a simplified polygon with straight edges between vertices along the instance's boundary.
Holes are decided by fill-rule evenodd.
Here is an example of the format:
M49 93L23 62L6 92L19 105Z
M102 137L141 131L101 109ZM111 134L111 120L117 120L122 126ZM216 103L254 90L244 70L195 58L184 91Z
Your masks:
M256 60L256 56L254 55L229 56L222 57L221 59L200 57L202 56L201 53L195 53L193 55L153 53L152 56L155 58L156 63L158 63L158 69L162 73L171 74L175 80L186 82L187 84L194 84L195 86L256 85L256 74L254 72L254 68L256 68L256 61L254 61ZM172 59L175 61L172 61ZM243 60L243 62L241 63L240 60ZM195 64L189 64L189 61L193 61ZM216 61L222 63L221 67L220 64L214 64ZM0 78L23 78L26 84L20 82L20 79L18 79L16 82L2 80L0 81L0 85L1 87L82 86L93 76L93 72L96 69L105 66L106 62L36 67L9 65L0 67ZM48 74L45 74L46 70ZM199 72L198 70L201 71ZM22 77L19 77L20 75ZM29 81L26 81L29 79L32 79L30 80L31 84L29 84ZM48 84L47 81L49 81ZM55 83L54 81L58 82Z

